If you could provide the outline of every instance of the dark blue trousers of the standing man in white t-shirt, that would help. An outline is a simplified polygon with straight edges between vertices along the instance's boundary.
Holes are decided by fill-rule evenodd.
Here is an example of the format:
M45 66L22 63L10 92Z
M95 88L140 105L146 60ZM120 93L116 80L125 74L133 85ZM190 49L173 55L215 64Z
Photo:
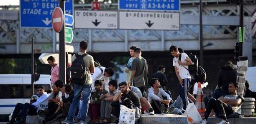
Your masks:
M191 79L185 78L182 80L183 80L182 86L180 84L178 84L179 85L179 96L182 98L183 109L186 110L187 104L189 104L187 93L188 93L188 87L189 87L189 83L190 83Z

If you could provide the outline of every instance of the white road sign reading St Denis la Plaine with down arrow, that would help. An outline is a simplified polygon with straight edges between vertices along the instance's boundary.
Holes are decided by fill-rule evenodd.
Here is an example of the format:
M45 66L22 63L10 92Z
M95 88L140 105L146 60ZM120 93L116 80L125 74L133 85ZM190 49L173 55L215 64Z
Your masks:
M75 28L118 29L118 12L76 10Z

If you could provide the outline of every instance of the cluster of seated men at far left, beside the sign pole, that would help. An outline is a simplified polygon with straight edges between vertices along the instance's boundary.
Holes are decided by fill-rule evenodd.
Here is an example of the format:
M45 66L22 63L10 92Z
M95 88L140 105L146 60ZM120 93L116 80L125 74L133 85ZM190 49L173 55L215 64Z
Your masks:
M8 124L25 124L27 115L43 115L45 122L51 122L56 118L65 118L67 116L70 103L74 97L72 85L64 84L61 80L57 80L52 86L52 90L48 89L47 93L43 86L37 87L37 91L36 95L32 95L30 103L16 104ZM41 108L40 104L45 100L48 100L46 109L39 109Z

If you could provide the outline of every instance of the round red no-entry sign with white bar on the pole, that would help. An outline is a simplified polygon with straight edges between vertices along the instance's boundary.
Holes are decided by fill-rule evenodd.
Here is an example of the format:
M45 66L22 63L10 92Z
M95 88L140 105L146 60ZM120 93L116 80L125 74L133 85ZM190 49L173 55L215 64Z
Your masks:
M64 14L61 7L56 7L51 16L51 25L55 32L59 33L64 25Z

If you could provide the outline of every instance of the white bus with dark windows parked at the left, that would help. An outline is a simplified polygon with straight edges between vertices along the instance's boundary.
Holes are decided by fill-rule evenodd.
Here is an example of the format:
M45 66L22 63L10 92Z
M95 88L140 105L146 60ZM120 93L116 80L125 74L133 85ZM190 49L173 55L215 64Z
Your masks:
M50 75L41 74L34 84L34 94L39 85L50 89ZM0 74L0 114L13 113L17 103L30 102L30 97L31 74Z

